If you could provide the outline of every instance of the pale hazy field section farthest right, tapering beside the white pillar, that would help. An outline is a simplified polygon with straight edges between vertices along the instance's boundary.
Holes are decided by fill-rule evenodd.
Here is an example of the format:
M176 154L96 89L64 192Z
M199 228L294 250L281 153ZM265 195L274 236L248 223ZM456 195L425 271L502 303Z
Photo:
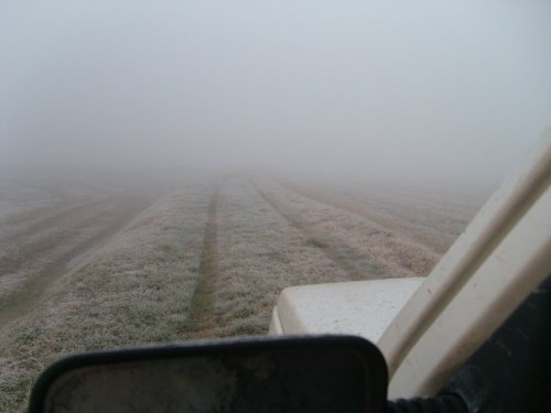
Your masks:
M482 207L491 188L412 186L392 182L310 183L280 181L288 189L363 216L444 253Z

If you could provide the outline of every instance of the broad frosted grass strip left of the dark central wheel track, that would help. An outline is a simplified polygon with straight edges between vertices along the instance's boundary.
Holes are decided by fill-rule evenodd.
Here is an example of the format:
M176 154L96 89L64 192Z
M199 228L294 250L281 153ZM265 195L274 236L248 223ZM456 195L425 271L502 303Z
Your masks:
M0 411L23 411L37 373L69 352L186 338L210 193L159 202L1 332Z

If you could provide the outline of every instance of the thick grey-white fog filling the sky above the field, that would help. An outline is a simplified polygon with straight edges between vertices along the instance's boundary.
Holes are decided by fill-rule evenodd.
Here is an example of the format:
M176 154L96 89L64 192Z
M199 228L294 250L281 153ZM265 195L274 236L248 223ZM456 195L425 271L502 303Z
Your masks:
M496 181L550 123L547 1L0 3L6 167Z

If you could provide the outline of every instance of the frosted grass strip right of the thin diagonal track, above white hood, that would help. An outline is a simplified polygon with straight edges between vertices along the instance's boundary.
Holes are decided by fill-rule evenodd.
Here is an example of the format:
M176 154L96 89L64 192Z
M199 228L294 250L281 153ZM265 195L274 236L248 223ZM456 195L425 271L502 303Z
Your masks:
M352 268L365 280L426 275L440 254L401 232L313 199L272 182L261 182L262 192L292 222L331 251L334 260Z

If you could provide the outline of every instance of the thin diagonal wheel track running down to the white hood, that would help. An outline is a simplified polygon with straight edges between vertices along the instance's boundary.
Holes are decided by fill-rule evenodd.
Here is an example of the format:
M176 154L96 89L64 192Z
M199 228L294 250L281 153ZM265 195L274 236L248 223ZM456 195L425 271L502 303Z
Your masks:
M264 202L270 205L283 219L285 219L289 224L291 224L294 228L296 228L306 239L310 240L310 243L320 249L323 254L333 261L335 265L343 270L350 281L363 281L367 279L367 274L358 271L355 267L350 265L346 260L344 260L337 250L327 246L323 240L321 240L313 230L311 230L307 225L302 222L301 220L294 218L291 214L288 214L281 208L273 198L271 198L266 192L260 189L256 183L252 183L255 191L264 199Z

